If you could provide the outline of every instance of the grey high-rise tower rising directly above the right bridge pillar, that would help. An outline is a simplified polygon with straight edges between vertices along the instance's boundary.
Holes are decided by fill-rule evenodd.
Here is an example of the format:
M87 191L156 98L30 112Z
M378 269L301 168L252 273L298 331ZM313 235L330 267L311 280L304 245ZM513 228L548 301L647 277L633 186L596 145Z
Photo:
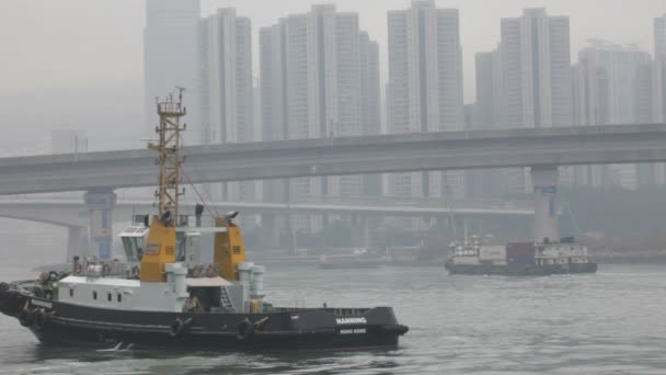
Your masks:
M502 19L502 69L507 127L572 125L567 16L526 9Z

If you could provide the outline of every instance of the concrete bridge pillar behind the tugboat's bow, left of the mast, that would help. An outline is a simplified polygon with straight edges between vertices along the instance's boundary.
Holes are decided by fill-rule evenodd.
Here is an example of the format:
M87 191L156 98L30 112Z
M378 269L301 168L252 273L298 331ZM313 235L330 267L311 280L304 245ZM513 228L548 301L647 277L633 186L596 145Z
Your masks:
M111 188L88 191L85 205L90 217L90 254L102 260L111 259L116 194Z

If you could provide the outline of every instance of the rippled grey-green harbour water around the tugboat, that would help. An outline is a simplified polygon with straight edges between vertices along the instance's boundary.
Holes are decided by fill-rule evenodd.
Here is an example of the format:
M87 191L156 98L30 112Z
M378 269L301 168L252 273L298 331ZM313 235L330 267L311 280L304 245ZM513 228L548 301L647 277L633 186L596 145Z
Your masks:
M0 265L0 280L28 275ZM410 332L380 351L99 352L43 346L2 316L0 374L666 374L665 265L536 279L274 266L266 289L287 306L393 306Z

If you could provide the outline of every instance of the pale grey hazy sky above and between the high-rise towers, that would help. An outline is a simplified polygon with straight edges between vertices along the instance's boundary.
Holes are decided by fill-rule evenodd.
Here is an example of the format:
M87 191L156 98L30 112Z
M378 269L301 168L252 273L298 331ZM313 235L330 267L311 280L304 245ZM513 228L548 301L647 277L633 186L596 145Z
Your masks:
M202 0L202 13L233 7L249 15L256 67L260 26L326 2L332 1ZM379 42L386 78L386 13L407 8L410 1L335 3L341 11L358 12L361 29ZM474 53L493 49L500 19L519 16L523 8L546 7L551 15L571 18L574 60L594 37L638 43L652 53L653 19L666 13L666 0L438 0L437 5L460 10L466 102L474 101ZM16 129L12 137L0 137L0 151L16 145L41 149L54 127L85 129L95 149L112 147L110 139L115 145L138 139L137 129L143 128L143 24L142 0L0 0L0 128Z

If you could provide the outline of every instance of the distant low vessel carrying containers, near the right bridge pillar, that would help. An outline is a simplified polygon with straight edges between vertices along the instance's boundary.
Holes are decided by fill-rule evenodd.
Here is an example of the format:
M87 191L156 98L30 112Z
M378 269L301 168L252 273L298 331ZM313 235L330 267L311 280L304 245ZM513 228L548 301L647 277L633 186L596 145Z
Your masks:
M476 237L450 246L446 270L463 275L552 275L595 273L597 264L587 248L573 238L559 242L514 242L506 246L482 245Z

